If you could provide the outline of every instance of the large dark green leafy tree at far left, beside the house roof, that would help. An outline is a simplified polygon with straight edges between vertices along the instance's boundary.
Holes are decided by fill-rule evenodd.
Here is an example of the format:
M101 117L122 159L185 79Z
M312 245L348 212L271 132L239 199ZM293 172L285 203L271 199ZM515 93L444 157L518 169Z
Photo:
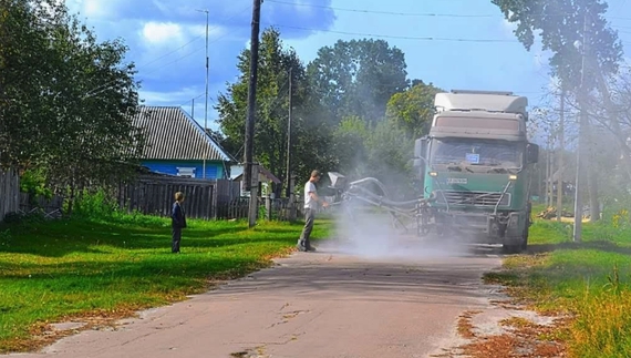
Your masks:
M0 0L0 161L74 188L132 174L143 135L134 65L63 2Z

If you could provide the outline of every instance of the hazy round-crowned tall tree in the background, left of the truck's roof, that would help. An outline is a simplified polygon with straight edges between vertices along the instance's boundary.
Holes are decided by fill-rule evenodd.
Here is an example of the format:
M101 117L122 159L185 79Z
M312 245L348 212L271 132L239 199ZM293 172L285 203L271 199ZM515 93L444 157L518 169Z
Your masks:
M403 52L383 40L339 40L308 65L318 98L337 125L345 116L384 117L390 98L408 86Z

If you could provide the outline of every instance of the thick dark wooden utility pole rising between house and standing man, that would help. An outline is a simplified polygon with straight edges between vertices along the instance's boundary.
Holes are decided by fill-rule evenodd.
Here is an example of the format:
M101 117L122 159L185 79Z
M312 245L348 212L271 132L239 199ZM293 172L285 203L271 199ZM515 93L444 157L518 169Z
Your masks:
M249 227L256 225L258 213L258 171L252 172L252 153L255 136L255 115L257 104L257 72L259 64L259 28L261 17L261 1L254 0L252 7L252 30L250 35L250 80L248 83L248 117L246 123L246 143L245 143L245 167L244 183L245 190L250 192L250 205L248 211ZM252 176L256 175L256 183ZM252 185L255 184L255 185Z

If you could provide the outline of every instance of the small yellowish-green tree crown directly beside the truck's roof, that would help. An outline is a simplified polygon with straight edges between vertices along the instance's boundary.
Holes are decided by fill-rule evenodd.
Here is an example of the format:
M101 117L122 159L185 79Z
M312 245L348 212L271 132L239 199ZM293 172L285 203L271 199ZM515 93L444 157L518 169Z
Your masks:
M417 81L416 84L404 92L395 93L387 101L386 116L402 129L411 137L421 137L430 132L434 116L434 98L443 90L432 83L425 84Z

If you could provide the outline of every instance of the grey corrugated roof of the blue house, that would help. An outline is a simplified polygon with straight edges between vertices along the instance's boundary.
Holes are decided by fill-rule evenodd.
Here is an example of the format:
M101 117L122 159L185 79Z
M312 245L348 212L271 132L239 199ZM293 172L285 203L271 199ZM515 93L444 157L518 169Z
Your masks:
M139 106L133 119L145 133L143 158L238 162L178 106Z

